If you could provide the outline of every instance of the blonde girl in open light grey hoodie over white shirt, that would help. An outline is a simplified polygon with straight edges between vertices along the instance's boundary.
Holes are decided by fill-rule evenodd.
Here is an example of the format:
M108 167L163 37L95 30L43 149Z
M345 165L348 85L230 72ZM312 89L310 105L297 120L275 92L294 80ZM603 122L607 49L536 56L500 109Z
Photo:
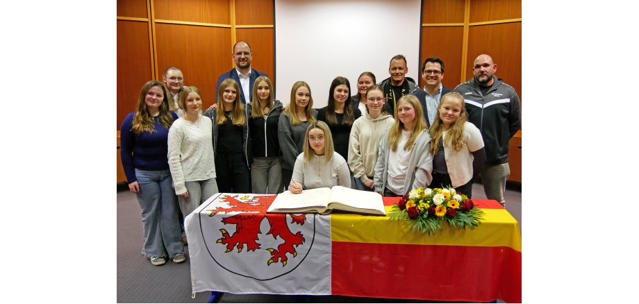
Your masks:
M419 99L402 96L397 102L395 124L379 143L373 179L375 191L383 196L403 196L411 189L430 185L433 179L430 142Z

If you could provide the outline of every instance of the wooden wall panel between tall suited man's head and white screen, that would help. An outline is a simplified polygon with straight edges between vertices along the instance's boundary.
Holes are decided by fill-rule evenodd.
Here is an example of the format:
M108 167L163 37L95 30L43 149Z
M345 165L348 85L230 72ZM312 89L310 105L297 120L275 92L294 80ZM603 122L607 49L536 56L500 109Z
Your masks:
M273 28L238 28L238 41L251 44L253 61L251 67L268 74L275 83L275 33Z

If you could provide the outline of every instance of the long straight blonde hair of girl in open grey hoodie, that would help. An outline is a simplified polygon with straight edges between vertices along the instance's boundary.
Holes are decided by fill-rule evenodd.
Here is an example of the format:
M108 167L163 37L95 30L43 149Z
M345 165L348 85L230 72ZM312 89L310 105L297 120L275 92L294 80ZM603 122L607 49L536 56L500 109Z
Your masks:
M397 101L397 107L399 108L400 103L410 103L413 105L413 109L415 109L415 121L413 121L413 127L410 128L410 136L408 136L408 141L404 145L404 151L408 151L413 149L413 144L415 144L415 140L417 137L422 134L423 130L426 130L426 121L424 120L424 114L422 110L422 105L420 104L420 100L413 95L404 95L401 96L399 101ZM399 111L395 111L395 124L390 127L388 131L388 144L390 145L390 149L392 151L397 151L397 145L399 144L399 140L401 139L401 130L404 128L404 123L399 120Z

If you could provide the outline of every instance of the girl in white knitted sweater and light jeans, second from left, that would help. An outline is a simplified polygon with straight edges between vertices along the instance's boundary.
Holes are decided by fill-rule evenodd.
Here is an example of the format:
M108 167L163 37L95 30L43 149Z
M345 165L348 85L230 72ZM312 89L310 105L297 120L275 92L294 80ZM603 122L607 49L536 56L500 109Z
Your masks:
M169 129L169 168L180 210L186 218L217 193L213 156L213 121L201 115L197 87L184 87L179 106L185 111Z

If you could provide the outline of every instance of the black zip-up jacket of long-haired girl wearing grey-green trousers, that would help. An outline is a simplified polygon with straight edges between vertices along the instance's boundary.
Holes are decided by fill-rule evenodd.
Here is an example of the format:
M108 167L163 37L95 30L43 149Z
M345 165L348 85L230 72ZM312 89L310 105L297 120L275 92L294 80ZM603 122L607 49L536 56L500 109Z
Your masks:
M253 103L247 104L247 116L249 117L249 137L251 138L251 155L253 157L280 156L282 153L277 137L277 126L279 116L284 110L284 106L279 100L273 102L273 107L269 110L266 121L264 117L253 118L251 111Z

